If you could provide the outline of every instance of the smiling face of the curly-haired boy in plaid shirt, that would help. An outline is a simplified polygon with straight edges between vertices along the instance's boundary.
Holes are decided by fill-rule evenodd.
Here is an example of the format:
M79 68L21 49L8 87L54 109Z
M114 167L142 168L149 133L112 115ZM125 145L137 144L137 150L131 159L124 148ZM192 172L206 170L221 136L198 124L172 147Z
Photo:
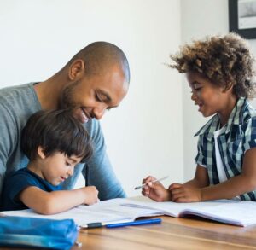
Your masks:
M223 87L212 84L200 73L189 72L186 77L192 90L191 99L198 105L198 111L203 116L208 117L215 113L220 116L230 115L233 108L230 107L230 100L234 99L232 90L224 90Z

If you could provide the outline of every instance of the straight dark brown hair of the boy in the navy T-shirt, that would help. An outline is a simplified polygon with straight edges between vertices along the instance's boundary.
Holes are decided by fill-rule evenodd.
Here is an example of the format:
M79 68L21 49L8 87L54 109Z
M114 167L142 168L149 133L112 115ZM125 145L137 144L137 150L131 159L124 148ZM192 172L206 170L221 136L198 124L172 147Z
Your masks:
M20 147L30 160L36 160L38 147L46 156L61 152L88 160L93 148L88 132L70 110L38 111L27 120L21 133Z

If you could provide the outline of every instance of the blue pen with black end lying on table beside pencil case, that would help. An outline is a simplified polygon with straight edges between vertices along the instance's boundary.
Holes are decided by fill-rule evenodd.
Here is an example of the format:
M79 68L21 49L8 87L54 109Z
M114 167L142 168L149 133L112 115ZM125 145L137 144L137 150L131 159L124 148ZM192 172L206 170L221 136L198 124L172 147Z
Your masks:
M101 222L96 223L89 223L84 224L80 228L81 229L96 229L96 228L102 228L103 226L106 226L106 228L119 228L119 227L125 227L125 226L132 226L132 225L141 225L141 224L158 224L161 223L160 218L151 218L151 219L142 219L137 221L131 221L131 222L125 222L125 223L117 223L117 224L106 224Z

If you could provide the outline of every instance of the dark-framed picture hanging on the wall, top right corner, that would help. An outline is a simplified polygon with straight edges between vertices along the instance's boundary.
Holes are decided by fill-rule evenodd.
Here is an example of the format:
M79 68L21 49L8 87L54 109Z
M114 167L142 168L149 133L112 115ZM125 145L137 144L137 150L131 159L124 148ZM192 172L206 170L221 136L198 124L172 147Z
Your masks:
M229 0L230 32L256 38L256 0Z

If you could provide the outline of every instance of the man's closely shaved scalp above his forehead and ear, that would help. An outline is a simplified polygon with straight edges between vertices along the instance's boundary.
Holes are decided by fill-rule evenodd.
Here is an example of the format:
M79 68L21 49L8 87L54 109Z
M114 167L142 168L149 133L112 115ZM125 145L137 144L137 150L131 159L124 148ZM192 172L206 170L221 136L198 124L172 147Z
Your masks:
M125 75L126 83L130 83L130 67L125 53L114 44L107 42L89 44L73 56L67 67L78 59L84 61L85 73L88 77L105 73L110 67L119 66Z

